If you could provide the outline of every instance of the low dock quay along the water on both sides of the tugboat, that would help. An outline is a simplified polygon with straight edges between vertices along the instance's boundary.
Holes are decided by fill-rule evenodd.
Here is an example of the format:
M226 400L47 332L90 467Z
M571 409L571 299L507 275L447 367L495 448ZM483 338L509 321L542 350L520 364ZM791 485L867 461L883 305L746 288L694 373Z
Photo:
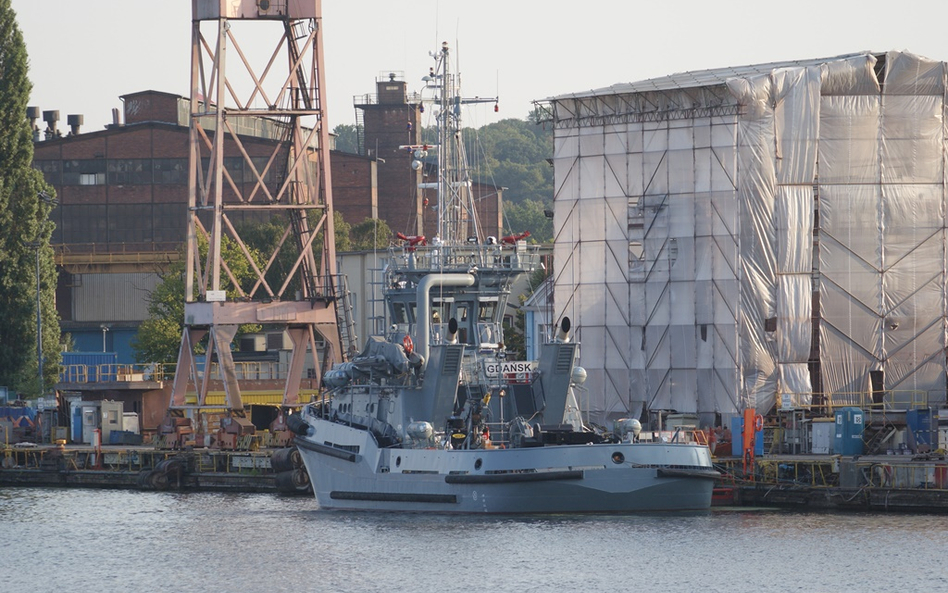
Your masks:
M224 451L154 446L10 445L0 487L80 487L310 494L295 448ZM948 512L943 455L764 455L744 472L718 457L715 506L871 512Z

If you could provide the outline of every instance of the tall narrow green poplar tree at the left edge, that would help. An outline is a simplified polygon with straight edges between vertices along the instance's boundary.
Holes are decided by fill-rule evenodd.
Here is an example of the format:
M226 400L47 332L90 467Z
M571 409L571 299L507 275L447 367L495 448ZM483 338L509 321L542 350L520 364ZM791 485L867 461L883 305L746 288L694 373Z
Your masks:
M53 190L32 168L33 133L26 119L32 84L23 35L10 0L0 0L0 385L30 396L59 376L56 268L49 239ZM43 377L36 356L36 260L43 333Z

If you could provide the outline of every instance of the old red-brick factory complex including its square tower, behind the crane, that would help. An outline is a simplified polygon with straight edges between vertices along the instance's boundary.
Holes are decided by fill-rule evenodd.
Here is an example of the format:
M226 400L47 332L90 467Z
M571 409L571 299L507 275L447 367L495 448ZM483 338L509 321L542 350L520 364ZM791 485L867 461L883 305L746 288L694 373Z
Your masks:
M412 97L403 79L388 74L379 77L376 94L356 97L362 144L368 148L364 154L333 150L330 159L334 209L346 222L381 218L393 231L430 235L435 217L425 220L426 196L418 185L430 181L426 175L433 170L413 170L411 153L399 150L421 141L421 115ZM58 111L32 108L29 115L34 167L55 188L58 200L50 218L56 224L52 245L60 269L56 300L62 330L72 336L75 350L115 352L119 364L129 364L134 362L130 341L147 317L147 297L159 271L180 256L185 239L190 101L159 91L121 100L123 109L113 110L113 123L92 132L82 130L80 115L69 116L65 134ZM239 133L263 170L284 130L258 118ZM227 169L244 193L255 179L243 171L239 150L229 138L225 141ZM273 169L264 179L271 191L278 186ZM484 234L500 235L502 192L479 185L475 191L483 197ZM225 201L235 196L232 187L225 187ZM241 220L239 213L234 216ZM372 329L360 327L357 333L365 336ZM285 340L270 342L283 348Z

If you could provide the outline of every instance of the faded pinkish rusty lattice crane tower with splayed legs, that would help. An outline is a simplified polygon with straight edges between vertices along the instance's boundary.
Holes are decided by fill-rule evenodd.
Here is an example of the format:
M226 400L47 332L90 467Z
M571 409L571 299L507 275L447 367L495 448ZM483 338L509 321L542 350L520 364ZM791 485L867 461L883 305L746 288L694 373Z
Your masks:
M321 3L192 0L192 15L185 325L169 407L185 407L191 385L197 406L206 407L216 364L227 406L242 410L231 348L242 324L282 327L289 335L293 354L283 404L295 405L307 362L318 382L321 370L344 355ZM246 31L254 33L254 48L258 31L270 35L273 50L264 64L244 51L238 38ZM260 128L274 140L263 157L241 142L242 133ZM251 179L252 191L241 191L237 175ZM273 252L255 255L237 219L281 224ZM281 253L295 260L274 280ZM252 286L239 284L238 265L252 270ZM205 337L201 368L195 348Z

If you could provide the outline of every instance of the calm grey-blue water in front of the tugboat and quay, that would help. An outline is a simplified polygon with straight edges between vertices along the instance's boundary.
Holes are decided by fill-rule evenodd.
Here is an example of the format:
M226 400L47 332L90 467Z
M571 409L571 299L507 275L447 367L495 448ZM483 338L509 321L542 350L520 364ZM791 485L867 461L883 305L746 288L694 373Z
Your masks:
M0 488L0 591L896 592L948 588L948 517L455 517L310 498Z

